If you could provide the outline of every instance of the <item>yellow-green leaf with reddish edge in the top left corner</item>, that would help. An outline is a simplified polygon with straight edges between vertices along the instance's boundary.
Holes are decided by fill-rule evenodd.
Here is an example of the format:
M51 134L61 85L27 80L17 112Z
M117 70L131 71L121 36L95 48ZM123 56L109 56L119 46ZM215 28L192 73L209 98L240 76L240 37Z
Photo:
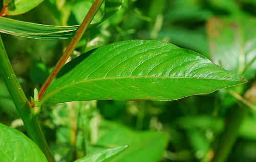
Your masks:
M9 2L7 6L7 15L19 15L28 12L38 6L44 0L5 0Z

